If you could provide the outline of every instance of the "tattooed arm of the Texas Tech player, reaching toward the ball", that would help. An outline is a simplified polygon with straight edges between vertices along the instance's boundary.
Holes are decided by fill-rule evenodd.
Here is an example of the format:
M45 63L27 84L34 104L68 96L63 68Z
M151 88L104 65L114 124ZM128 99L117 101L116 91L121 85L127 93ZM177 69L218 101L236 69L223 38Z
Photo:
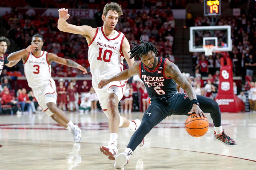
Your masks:
M183 88L189 99L197 99L197 95L195 94L195 91L191 84L187 81L187 79L181 74L181 71L179 71L178 67L176 67L173 63L167 67L166 70L167 73L171 75L171 78L181 87Z

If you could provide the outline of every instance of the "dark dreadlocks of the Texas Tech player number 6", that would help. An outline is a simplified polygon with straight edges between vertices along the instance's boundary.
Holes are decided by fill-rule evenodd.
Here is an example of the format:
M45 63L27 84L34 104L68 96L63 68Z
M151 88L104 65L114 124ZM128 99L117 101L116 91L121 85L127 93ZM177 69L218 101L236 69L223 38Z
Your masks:
M150 42L144 43L144 41L142 41L142 35L141 35L141 38L139 40L139 43L140 44L136 44L136 43L131 42L131 44L136 45L136 46L134 46L129 51L129 53L131 53L130 54L130 59L134 58L134 60L138 60L139 58L141 58L141 56L143 54L147 55L147 53L149 51L153 51L155 53L155 55L157 55L157 48Z

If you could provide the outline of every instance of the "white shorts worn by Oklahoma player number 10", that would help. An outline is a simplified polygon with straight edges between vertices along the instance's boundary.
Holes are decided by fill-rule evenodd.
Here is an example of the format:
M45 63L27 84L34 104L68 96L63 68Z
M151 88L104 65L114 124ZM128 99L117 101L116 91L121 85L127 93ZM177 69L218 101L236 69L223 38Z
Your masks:
M117 95L119 102L123 98L123 93L125 91L127 81L128 80L111 82L107 86L99 89L98 84L100 80L94 78L91 80L91 83L98 96L99 103L101 104L101 108L103 111L107 110L107 94L114 93L115 95Z

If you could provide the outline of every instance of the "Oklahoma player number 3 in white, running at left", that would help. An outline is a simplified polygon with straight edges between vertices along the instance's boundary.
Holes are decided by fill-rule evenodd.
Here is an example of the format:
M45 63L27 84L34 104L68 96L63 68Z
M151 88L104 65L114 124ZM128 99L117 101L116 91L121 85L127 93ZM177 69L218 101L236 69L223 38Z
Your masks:
M65 127L71 133L75 142L81 140L81 129L74 125L65 113L56 105L57 91L53 78L51 78L52 61L69 67L75 67L86 73L86 69L78 63L58 57L56 54L42 51L43 37L36 34L32 37L31 45L26 49L11 53L7 59L15 61L22 59L25 76L30 88L32 88L38 104L43 111L53 118L58 124Z

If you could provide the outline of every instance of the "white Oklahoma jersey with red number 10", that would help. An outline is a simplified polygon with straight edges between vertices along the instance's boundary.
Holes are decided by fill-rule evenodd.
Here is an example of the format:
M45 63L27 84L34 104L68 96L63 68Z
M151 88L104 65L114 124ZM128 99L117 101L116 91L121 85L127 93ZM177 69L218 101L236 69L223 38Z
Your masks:
M98 27L91 41L88 59L92 77L108 79L123 70L122 44L125 35L116 31L113 37L107 38L103 27Z

